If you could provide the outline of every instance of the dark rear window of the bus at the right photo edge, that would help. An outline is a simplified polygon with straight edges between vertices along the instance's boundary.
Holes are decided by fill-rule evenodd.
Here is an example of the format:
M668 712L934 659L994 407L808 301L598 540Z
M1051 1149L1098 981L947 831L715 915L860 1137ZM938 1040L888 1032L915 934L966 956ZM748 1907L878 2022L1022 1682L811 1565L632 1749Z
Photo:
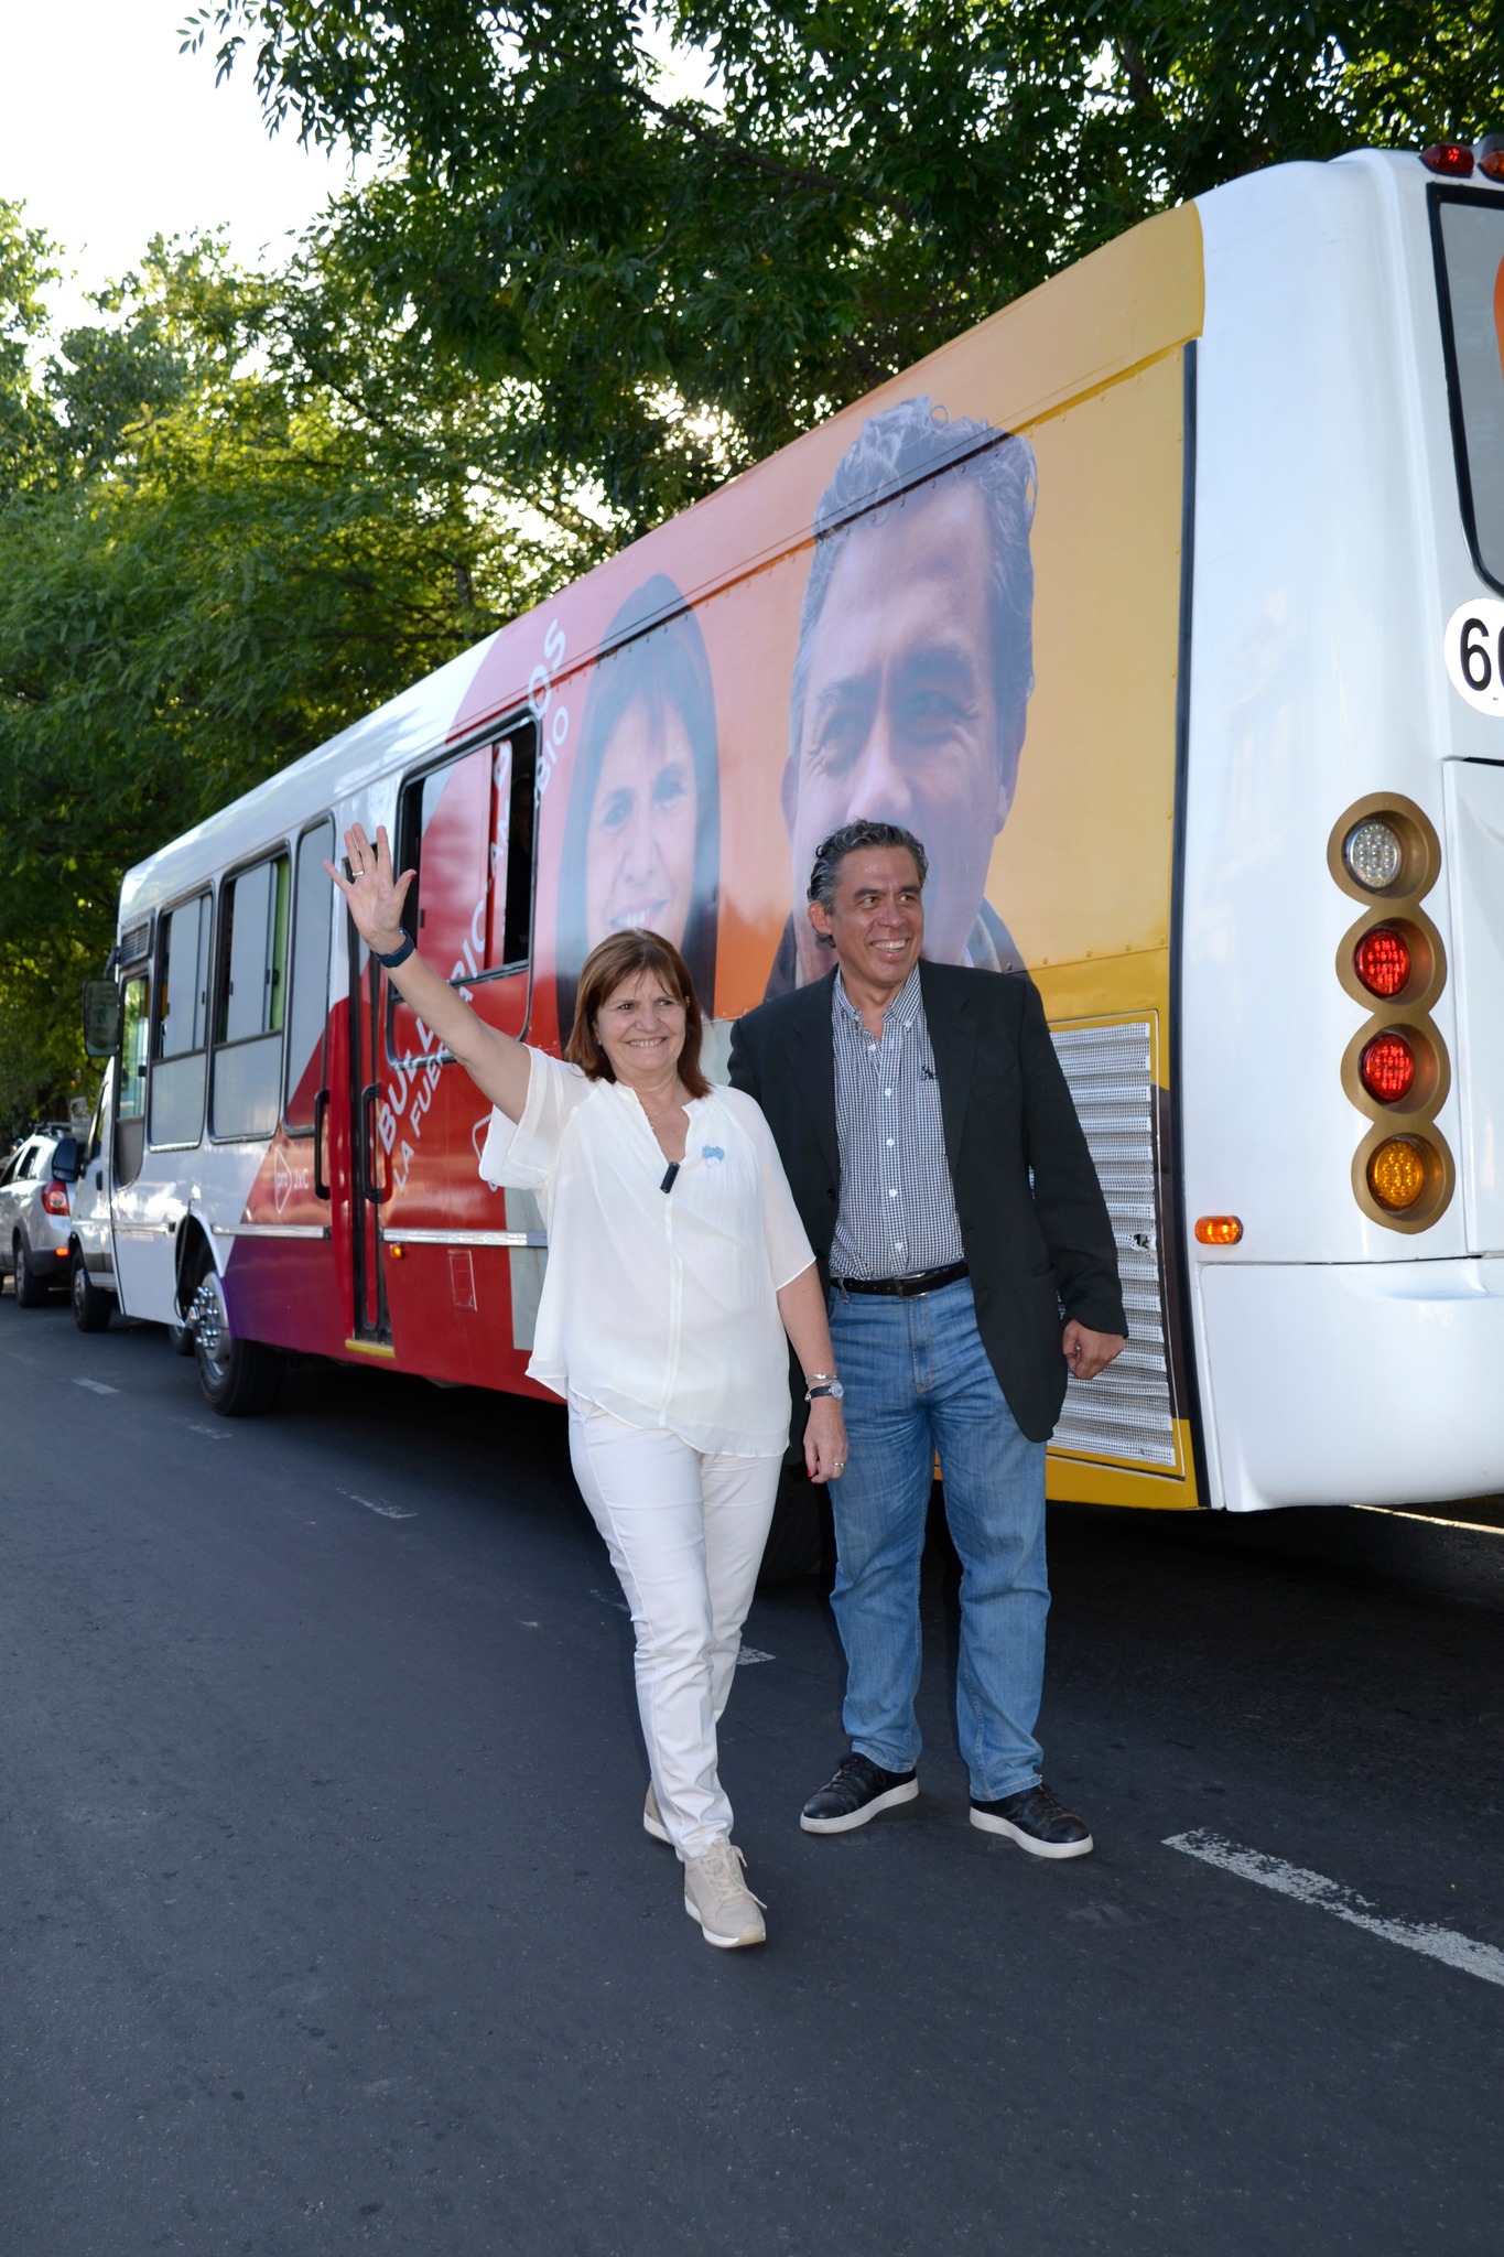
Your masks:
M1461 515L1479 571L1504 589L1504 208L1441 196L1434 214Z

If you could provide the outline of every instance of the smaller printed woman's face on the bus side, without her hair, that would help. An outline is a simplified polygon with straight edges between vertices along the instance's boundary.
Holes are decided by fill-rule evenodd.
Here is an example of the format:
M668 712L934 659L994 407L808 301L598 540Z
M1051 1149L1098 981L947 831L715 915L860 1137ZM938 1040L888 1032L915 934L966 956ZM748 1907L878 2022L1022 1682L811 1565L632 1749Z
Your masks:
M683 946L695 896L699 790L674 706L627 706L602 754L584 842L584 925L595 948L647 925Z

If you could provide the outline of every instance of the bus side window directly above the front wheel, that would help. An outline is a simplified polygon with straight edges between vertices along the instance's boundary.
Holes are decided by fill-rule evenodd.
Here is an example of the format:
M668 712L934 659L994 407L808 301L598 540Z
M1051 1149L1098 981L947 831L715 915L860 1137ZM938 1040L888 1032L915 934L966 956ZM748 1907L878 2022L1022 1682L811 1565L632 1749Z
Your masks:
M225 878L219 903L212 1133L271 1135L282 1099L289 858Z

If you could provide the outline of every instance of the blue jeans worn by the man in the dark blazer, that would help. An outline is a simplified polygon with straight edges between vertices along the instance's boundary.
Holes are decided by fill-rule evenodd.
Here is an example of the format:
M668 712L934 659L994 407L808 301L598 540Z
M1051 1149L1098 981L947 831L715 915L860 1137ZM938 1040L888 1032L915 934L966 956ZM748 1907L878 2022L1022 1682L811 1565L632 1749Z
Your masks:
M920 1756L920 1553L936 1454L961 1555L956 1727L979 1801L1039 1781L1044 1442L1019 1433L976 1332L970 1277L913 1300L830 1296L850 1463L830 1483L846 1648L843 1722L859 1756Z

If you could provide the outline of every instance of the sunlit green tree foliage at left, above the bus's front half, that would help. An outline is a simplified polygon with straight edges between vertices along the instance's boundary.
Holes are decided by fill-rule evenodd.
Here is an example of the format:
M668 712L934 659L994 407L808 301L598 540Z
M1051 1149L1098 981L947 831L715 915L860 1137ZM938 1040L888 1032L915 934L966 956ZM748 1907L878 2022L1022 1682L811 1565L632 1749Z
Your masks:
M122 871L584 569L602 519L494 469L494 386L313 241L153 244L50 357L0 205L0 1122L59 1108ZM7 325L9 316L9 325ZM11 350L14 341L14 350ZM9 354L9 359L7 359Z

